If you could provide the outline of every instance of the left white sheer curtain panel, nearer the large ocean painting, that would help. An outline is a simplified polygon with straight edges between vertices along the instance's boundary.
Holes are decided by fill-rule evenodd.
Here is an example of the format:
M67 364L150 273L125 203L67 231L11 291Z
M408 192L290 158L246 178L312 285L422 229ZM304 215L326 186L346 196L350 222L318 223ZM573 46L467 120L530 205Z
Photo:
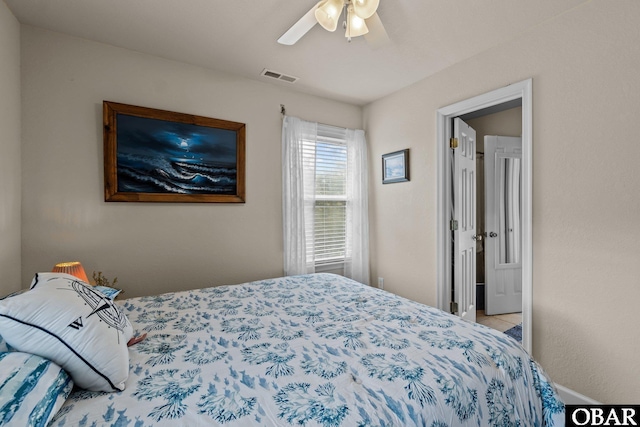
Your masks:
M306 243L306 230L313 230L315 203L315 163L308 163L315 156L303 156L302 142L316 141L317 134L317 123L285 116L282 123L282 226L286 276L315 272L313 250L310 248L307 254Z

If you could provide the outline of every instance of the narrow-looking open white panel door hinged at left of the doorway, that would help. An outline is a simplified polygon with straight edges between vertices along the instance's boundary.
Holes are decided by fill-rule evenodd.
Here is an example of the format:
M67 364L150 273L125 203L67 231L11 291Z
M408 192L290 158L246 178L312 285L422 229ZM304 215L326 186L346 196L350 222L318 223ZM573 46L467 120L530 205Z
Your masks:
M455 118L453 136L453 284L458 314L476 321L476 131Z

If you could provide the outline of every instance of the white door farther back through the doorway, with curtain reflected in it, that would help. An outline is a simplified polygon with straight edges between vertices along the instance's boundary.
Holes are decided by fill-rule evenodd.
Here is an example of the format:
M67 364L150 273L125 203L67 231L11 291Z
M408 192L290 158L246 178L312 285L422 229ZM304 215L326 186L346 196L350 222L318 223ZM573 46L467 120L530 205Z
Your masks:
M522 139L484 137L485 312L522 311Z

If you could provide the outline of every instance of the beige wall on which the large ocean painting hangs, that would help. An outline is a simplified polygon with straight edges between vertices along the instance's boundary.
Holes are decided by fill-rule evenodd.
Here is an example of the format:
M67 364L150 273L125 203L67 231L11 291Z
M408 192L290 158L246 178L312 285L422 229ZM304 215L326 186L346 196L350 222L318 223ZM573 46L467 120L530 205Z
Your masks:
M30 26L22 100L23 282L78 259L125 296L281 276L280 104L362 124L360 107ZM105 203L103 100L246 123L247 202Z

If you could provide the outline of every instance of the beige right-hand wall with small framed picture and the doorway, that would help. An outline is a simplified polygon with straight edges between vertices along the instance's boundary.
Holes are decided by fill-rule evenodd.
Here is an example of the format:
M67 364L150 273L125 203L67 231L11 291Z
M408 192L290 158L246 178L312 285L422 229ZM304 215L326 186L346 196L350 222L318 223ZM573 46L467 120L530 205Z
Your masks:
M436 110L533 79L533 355L593 399L640 401L640 30L593 1L367 106L372 277L436 304ZM380 155L411 148L411 182Z

